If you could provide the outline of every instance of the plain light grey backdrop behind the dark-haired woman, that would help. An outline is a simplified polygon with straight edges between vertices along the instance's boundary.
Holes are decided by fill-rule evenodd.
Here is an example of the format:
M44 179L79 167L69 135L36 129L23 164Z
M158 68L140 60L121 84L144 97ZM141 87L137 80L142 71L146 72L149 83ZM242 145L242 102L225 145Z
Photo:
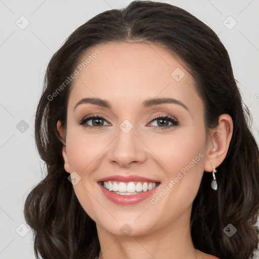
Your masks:
M0 259L30 259L32 233L24 201L44 163L34 142L34 119L51 56L81 24L130 0L0 0ZM160 1L179 6L217 33L229 52L259 142L259 1Z

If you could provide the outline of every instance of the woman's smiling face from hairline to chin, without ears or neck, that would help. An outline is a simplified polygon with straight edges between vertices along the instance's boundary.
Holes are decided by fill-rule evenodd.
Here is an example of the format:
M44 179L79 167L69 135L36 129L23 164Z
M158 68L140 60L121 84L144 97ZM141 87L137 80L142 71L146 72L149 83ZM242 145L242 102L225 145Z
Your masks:
M114 235L186 224L207 152L192 76L154 45L98 45L82 61L97 49L76 76L67 107L63 157L81 206L99 230ZM83 98L110 107L78 104ZM170 102L148 102L158 98Z

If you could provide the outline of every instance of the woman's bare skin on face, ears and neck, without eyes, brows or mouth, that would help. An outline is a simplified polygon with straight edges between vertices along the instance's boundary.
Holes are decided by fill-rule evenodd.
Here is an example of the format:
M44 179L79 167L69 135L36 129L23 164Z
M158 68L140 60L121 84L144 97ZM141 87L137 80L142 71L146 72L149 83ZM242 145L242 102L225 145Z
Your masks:
M206 135L203 103L194 80L165 49L144 43L109 43L89 49L85 57L96 49L100 54L75 78L67 128L60 121L57 128L65 144L64 168L81 177L73 188L83 209L96 222L102 251L99 257L209 258L193 246L191 209L203 173L211 174L211 165L219 166L226 157L233 131L231 117L222 114L219 125ZM180 81L171 76L176 68L185 73ZM112 109L81 104L74 110L80 99L90 97L108 100ZM177 99L189 111L172 103L141 107L144 100L155 97ZM103 128L78 125L82 118L96 113L107 121ZM175 117L179 125L159 131L163 125L159 126L159 120L151 121L155 115ZM128 133L119 127L125 119L133 125ZM87 124L94 122L90 119ZM150 198L135 205L115 204L97 184L111 175L138 175L161 183L154 198L199 153L203 154L200 160L156 204ZM132 229L129 236L120 232L124 224Z

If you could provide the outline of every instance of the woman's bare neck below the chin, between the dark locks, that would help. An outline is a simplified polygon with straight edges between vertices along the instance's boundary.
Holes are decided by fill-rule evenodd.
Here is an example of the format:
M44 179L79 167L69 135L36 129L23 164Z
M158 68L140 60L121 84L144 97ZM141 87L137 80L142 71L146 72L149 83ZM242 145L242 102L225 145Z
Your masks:
M97 224L101 246L99 258L203 258L203 253L193 245L188 215L190 213L182 214L176 221L157 230L127 237L114 235Z

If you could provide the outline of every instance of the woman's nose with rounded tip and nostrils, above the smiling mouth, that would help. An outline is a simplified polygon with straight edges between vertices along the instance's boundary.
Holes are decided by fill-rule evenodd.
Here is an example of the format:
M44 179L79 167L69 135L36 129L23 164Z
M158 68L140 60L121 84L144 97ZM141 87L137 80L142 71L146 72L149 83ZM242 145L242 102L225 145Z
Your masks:
M108 159L120 167L141 164L147 159L146 148L141 138L136 135L135 127L127 133L118 128L118 135L110 145Z

